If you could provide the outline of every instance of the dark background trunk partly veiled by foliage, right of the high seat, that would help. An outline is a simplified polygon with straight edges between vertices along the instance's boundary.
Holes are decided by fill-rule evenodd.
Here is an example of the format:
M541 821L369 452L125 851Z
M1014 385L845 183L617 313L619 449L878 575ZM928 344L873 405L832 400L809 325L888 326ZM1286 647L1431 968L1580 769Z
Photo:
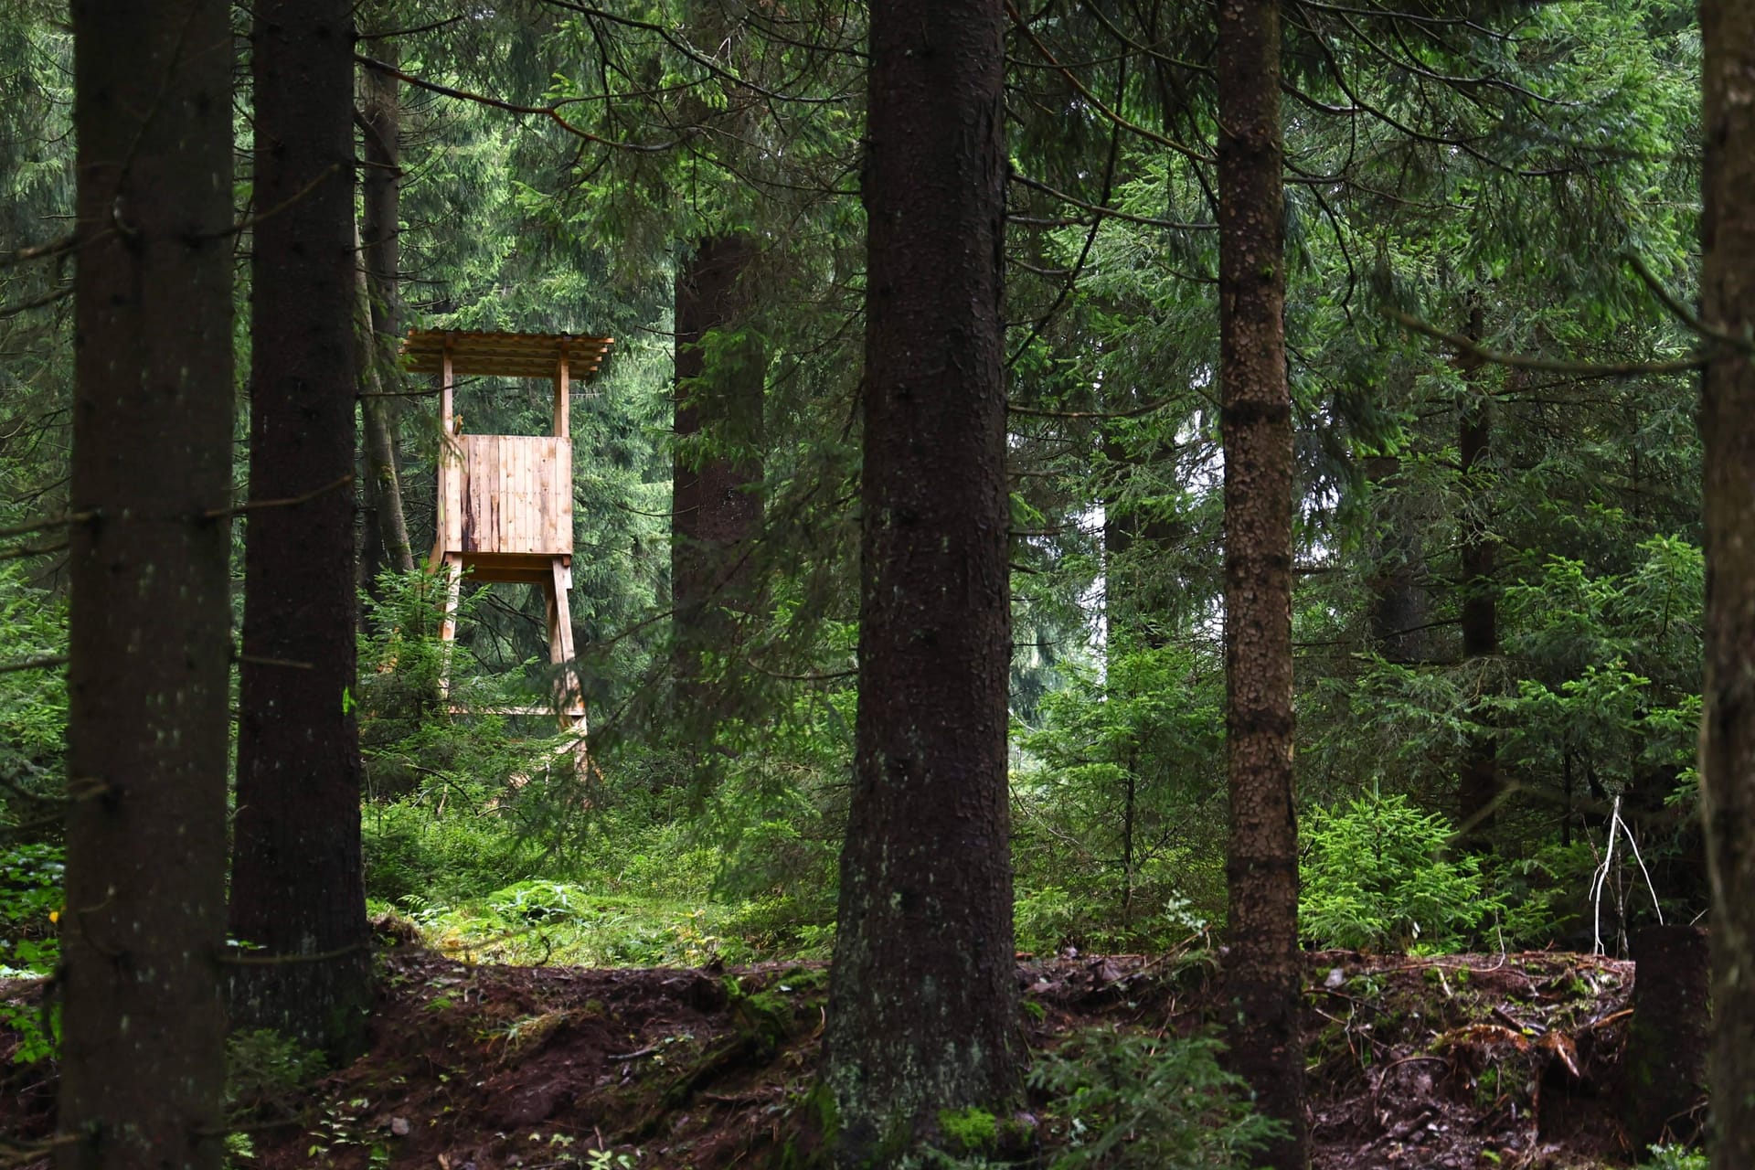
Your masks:
M749 542L762 530L763 347L711 344L746 326L753 242L704 240L676 277L676 437L730 454L679 453L670 496L670 602L684 709L700 712L704 653L728 653L735 612L753 603ZM711 353L711 360L709 360Z

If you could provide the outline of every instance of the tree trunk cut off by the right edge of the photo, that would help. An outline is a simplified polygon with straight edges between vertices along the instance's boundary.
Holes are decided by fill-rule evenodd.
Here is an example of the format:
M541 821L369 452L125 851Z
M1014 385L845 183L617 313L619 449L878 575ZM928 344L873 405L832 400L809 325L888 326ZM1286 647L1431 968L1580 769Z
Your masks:
M1755 5L1702 0L1706 168L1701 316L1755 326ZM1713 349L1706 447L1706 714L1701 816L1713 891L1713 1170L1755 1166L1755 360Z

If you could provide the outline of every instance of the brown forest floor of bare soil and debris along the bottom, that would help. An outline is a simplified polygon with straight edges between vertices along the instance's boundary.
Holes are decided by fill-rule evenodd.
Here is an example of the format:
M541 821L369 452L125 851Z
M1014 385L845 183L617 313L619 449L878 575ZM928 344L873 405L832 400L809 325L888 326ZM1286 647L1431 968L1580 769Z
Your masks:
M490 967L404 935L379 970L372 1049L304 1084L258 1075L233 1102L249 1135L233 1166L723 1170L777 1165L795 1140L821 963ZM1318 1170L1636 1161L1618 1123L1630 963L1330 951L1307 977ZM1214 1000L1200 954L1023 958L1018 986L1032 1049L1090 1026L1186 1033ZM0 1061L12 1047L0 1035ZM53 1063L0 1089L0 1133L46 1137ZM1064 1140L1053 1102L1030 1109L1049 1149Z

